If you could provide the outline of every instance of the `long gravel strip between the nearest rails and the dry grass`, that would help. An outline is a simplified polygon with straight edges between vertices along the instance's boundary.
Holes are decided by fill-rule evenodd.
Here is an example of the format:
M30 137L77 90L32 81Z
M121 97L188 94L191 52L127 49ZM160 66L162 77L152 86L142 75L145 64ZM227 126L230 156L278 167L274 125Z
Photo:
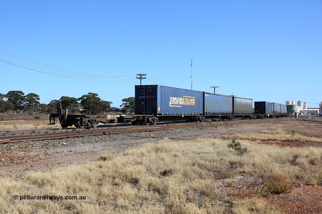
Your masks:
M240 124L240 122L247 123ZM277 122L275 123L274 119L218 121L216 123L218 125L213 127L166 129L0 144L0 176L20 178L26 172L51 170L60 166L86 163L97 160L103 153L120 153L146 143L155 143L162 138L190 140L220 137L222 134L253 133L272 128L300 130L295 126L312 125L310 121L294 118L280 118ZM313 123L313 125L316 124ZM300 131L302 134L312 136L312 128ZM314 136L322 137L322 133L316 131Z

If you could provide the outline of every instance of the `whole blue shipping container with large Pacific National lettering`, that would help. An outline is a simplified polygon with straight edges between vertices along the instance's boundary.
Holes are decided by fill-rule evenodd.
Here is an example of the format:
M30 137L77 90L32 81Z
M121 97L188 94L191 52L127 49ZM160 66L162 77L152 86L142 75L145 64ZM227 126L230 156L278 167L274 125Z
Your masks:
M135 86L135 113L153 115L200 115L203 92L162 85Z

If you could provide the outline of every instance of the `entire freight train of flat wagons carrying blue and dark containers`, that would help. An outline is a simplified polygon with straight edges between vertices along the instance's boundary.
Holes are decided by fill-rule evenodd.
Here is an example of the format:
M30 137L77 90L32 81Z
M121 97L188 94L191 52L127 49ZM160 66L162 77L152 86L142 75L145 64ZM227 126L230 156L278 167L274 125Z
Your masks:
M135 86L135 114L68 114L60 103L57 113L50 115L50 123L59 119L62 128L74 125L77 128L97 127L98 123L156 124L158 121L197 121L263 119L272 117L277 111L278 117L286 117L286 105L270 102L254 102L236 96L212 94L202 91L173 88L162 85Z

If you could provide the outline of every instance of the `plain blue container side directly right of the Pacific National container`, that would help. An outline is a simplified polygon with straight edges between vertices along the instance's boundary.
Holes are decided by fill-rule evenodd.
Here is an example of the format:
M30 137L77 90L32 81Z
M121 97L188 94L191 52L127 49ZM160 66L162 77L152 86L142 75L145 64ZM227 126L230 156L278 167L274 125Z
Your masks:
M204 114L232 114L232 97L204 92Z

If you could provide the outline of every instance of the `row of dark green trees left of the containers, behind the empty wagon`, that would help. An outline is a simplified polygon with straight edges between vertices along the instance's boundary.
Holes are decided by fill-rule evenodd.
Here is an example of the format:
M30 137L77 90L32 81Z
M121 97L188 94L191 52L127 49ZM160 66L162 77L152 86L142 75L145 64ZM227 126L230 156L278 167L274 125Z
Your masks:
M80 98L62 96L59 100L52 100L50 103L40 103L39 95L29 93L25 95L22 91L9 91L7 94L0 94L0 112L24 111L33 114L35 111L52 113L56 110L57 102L62 103L63 109L69 113L104 114L112 110L121 110L122 113L132 112L135 108L135 98L129 97L122 100L120 108L111 107L112 102L104 101L98 94L88 93Z

